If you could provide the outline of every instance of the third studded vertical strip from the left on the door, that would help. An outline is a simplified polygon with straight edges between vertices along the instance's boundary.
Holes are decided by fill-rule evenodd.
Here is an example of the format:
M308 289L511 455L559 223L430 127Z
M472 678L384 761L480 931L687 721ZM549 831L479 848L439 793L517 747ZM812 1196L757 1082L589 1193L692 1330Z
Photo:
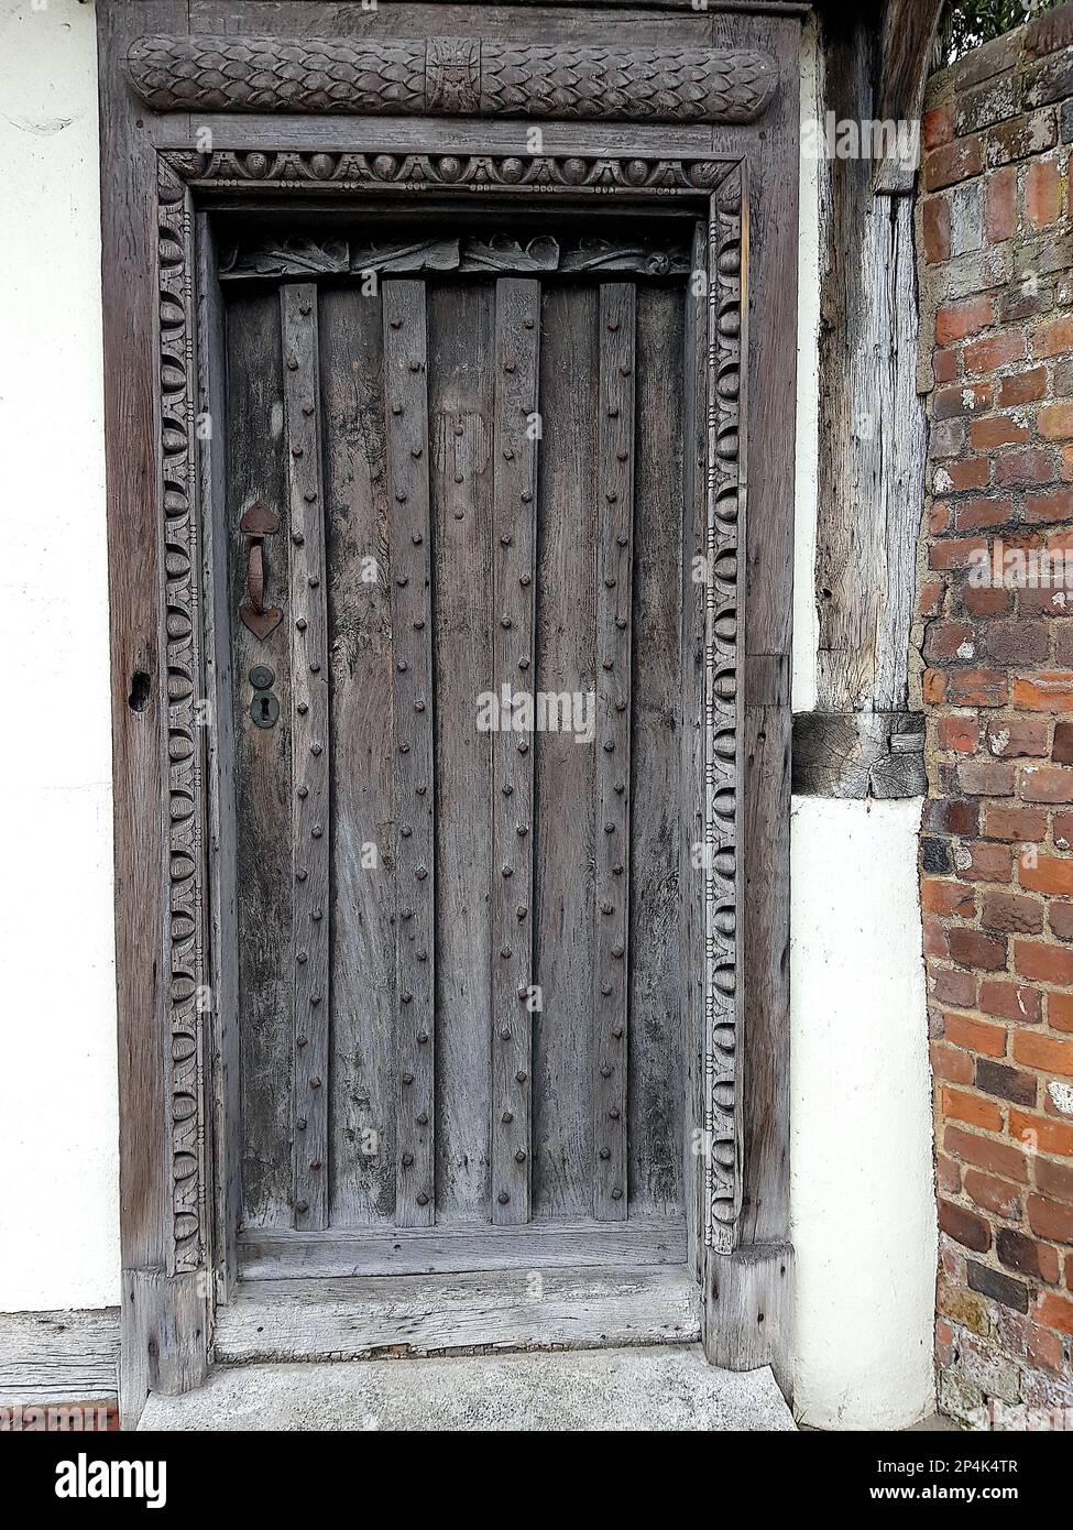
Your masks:
M493 682L533 687L540 283L496 283ZM530 1219L533 1097L533 744L493 744L491 1219Z

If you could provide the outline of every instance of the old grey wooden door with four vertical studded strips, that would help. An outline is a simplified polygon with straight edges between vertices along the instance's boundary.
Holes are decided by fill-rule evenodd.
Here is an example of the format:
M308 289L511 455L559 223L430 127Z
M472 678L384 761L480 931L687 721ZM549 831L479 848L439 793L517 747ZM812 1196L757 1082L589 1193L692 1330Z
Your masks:
M690 239L225 271L248 1274L686 1261Z

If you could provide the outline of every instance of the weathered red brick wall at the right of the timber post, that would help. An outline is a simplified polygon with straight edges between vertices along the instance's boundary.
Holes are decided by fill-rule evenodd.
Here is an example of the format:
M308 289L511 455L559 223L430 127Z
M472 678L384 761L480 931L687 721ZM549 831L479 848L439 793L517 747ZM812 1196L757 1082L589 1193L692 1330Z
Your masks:
M1073 554L1071 43L932 81L918 205L940 1405L1019 1427L1073 1411L1073 578L1018 588Z

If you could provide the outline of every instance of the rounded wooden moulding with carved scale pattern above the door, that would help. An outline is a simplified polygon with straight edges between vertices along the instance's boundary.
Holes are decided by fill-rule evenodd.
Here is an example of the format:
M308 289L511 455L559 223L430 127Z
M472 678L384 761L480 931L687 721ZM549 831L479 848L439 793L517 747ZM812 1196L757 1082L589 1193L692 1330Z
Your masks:
M136 38L127 78L155 112L755 122L779 66L758 49L194 35Z

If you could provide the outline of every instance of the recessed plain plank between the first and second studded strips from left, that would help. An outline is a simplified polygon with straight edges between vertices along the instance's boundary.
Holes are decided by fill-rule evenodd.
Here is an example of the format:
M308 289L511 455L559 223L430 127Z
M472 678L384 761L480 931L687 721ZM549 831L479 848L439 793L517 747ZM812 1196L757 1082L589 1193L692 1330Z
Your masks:
M331 652L332 1227L395 1221L395 711L380 291L320 292Z

